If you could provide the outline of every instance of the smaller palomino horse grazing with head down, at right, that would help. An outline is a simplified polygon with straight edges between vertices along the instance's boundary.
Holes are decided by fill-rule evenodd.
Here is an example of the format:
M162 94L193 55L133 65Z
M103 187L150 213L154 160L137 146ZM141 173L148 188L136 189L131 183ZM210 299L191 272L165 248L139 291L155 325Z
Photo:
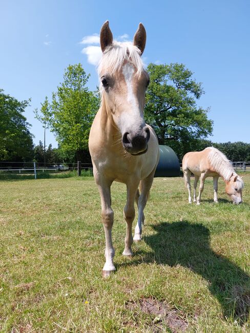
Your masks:
M232 164L226 156L214 147L205 148L201 152L186 153L182 160L184 180L189 191L189 203L191 199L191 173L195 176L194 202L196 202L196 186L200 177L199 195L197 204L200 204L201 193L204 188L206 177L214 178L214 202L218 202L218 178L221 176L226 184L225 192L231 197L235 204L242 202L243 180L237 175Z

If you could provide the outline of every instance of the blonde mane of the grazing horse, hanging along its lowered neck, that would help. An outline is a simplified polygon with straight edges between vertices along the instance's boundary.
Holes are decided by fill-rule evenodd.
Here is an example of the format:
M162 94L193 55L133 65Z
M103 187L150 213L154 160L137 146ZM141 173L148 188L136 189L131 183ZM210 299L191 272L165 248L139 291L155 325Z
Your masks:
M210 164L225 181L230 180L232 173L237 175L232 164L222 152L214 147L207 147L206 149L211 150L208 155ZM236 186L238 190L243 189L244 183L240 177L237 178Z

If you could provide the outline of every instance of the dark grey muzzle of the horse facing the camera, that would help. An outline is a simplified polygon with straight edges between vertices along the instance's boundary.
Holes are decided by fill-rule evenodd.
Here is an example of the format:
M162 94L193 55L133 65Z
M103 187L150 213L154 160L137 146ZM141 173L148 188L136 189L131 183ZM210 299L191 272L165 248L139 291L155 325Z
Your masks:
M141 155L147 152L150 139L150 130L147 126L140 132L125 132L122 135L122 145L131 155Z

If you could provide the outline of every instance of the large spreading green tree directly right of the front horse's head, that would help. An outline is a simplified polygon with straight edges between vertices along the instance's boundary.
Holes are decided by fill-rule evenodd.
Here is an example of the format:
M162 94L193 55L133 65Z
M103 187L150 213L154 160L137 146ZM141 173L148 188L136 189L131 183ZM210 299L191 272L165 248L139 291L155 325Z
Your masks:
M183 64L149 64L147 70L150 85L145 95L145 120L153 126L159 143L172 147L182 159L199 139L212 134L209 110L196 105L203 94L201 83Z

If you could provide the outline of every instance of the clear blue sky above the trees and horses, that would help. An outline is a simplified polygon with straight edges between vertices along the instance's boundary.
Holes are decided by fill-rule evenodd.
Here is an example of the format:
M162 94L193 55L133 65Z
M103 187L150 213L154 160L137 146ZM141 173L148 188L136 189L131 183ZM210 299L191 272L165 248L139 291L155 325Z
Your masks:
M43 128L33 110L56 91L69 64L81 63L91 74L89 88L97 86L96 68L89 63L97 49L89 47L98 46L90 42L103 22L109 19L119 40L132 39L142 22L145 64L183 63L203 82L198 105L211 108L210 139L250 143L249 17L248 0L0 0L0 88L19 100L31 97L25 116L37 144ZM81 44L83 38L89 43ZM47 131L49 143L57 147Z

